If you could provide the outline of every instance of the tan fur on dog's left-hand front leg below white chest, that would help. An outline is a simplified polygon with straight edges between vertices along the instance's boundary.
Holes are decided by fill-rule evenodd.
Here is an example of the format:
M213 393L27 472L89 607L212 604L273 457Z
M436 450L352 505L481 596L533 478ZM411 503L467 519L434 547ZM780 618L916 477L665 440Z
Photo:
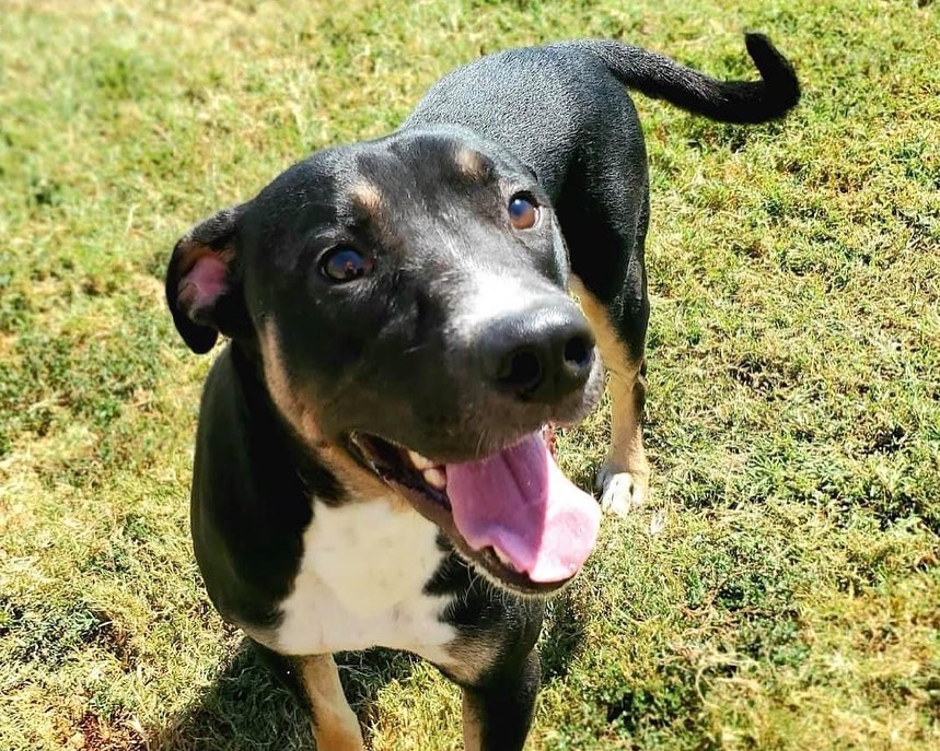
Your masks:
M321 751L363 751L362 730L349 707L332 655L304 657L301 672L313 707L313 737Z

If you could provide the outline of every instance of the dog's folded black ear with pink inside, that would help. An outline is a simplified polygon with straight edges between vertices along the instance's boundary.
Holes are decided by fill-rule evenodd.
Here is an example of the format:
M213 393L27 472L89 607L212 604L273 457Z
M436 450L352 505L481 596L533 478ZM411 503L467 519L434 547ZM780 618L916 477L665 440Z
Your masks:
M166 303L179 336L197 354L219 333L233 336L247 320L235 236L247 204L223 209L183 235L166 269Z

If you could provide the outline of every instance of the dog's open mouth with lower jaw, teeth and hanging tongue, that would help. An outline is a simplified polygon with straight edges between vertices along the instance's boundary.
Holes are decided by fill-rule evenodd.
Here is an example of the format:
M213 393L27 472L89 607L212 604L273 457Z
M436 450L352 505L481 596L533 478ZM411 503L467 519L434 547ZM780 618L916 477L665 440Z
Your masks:
M457 463L374 435L350 438L372 471L437 524L464 558L508 587L558 589L594 547L600 508L561 473L545 430Z

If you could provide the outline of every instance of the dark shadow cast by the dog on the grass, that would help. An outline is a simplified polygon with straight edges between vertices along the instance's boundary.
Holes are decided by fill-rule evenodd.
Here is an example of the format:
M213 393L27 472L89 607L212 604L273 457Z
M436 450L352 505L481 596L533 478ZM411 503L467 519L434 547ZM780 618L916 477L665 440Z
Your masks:
M544 683L564 679L582 638L578 608L570 594L562 592L549 606L539 645ZM346 696L363 727L376 719L382 688L391 681L407 680L418 659L385 649L336 656ZM313 748L307 715L247 639L220 668L211 685L148 742L148 749L161 751Z

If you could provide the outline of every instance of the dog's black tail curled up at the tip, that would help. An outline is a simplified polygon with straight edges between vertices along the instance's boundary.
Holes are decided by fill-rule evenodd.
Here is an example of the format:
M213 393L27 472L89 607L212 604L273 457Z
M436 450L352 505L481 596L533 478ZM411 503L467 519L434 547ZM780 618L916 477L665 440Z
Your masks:
M600 57L625 85L722 122L773 120L800 99L793 67L763 34L744 35L761 81L718 81L668 57L619 42L575 44Z

